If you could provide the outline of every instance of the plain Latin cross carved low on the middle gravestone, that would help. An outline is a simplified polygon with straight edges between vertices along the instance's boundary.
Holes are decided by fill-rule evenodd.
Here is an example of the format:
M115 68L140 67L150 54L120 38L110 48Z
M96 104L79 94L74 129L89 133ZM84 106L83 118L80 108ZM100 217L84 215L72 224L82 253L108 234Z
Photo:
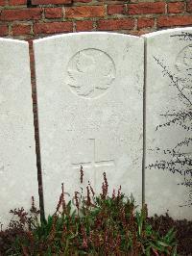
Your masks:
M94 185L96 184L96 169L102 166L115 166L114 160L104 160L104 161L96 161L96 147L95 147L95 139L89 139L91 141L91 150L92 150L92 159L88 162L82 163L73 163L72 166L74 169L80 169L81 166L93 168L94 169ZM105 169L103 170L105 171Z

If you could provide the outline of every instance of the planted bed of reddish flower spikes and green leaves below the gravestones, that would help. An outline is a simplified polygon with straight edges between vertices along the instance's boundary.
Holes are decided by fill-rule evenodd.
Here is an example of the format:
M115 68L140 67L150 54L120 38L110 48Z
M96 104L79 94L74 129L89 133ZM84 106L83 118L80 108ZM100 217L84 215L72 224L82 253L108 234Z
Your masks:
M136 210L121 186L109 196L103 176L100 195L88 182L86 195L75 192L68 203L61 184L56 212L41 224L34 197L30 213L12 210L9 227L0 231L0 255L192 255L192 221L148 218L147 205ZM83 177L81 168L81 183Z

